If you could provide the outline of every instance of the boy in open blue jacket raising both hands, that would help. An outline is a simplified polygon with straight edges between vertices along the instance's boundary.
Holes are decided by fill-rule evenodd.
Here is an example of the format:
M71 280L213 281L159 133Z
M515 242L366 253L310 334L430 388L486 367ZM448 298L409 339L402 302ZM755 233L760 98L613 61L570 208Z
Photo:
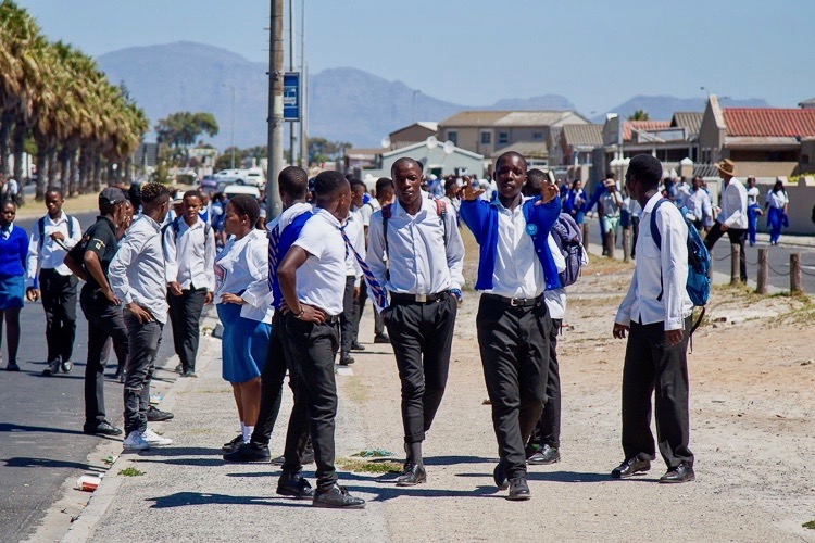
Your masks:
M496 162L498 198L479 200L466 179L461 215L480 245L476 316L484 378L492 404L500 459L493 477L510 500L529 500L524 445L540 418L552 327L543 291L560 287L548 238L561 212L557 187L543 184L525 200L526 160L506 152Z

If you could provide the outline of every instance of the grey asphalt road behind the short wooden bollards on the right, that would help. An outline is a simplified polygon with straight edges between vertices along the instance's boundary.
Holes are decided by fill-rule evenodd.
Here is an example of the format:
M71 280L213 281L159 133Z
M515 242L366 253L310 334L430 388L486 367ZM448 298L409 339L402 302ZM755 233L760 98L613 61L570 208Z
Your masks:
M589 226L589 241L600 245L600 223L597 217L587 219ZM640 227L641 228L641 227ZM745 248L748 261L748 278L751 281L758 279L758 248L769 248L769 285L782 290L790 288L790 254L801 254L802 279L804 292L815 293L815 247L800 247L785 243L790 241L789 236L781 235L780 243L770 247L769 243L758 242L756 247ZM622 238L617 238L617 248L622 247ZM730 244L727 236L722 237L713 248L713 269L730 276Z

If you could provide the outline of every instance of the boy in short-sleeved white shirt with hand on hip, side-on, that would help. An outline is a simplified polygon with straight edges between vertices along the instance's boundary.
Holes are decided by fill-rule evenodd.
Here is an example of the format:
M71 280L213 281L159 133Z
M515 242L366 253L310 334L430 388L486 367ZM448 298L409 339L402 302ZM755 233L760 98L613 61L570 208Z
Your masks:
M365 501L337 484L334 467L334 419L337 416L337 384L334 358L339 348L339 315L346 285L346 251L342 224L351 209L351 186L342 174L322 172L314 181L316 206L297 241L277 268L286 301L286 336L298 368L298 390L304 394L317 488L313 504L318 507L360 508ZM280 481L300 478L301 458L286 447Z

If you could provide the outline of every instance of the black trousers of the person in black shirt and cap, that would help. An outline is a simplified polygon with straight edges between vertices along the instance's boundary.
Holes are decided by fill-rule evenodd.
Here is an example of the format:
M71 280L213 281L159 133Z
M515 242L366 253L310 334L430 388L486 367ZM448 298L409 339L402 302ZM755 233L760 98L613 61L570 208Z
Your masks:
M110 305L95 293L85 292L79 305L88 319L88 363L85 366L85 425L96 428L105 419L104 361L102 353L110 350L109 340L128 345L122 307Z

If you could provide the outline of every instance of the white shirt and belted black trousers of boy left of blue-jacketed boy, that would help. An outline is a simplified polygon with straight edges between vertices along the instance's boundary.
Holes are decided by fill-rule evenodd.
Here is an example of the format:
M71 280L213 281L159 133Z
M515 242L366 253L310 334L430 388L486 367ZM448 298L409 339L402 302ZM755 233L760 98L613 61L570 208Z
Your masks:
M409 444L424 441L444 394L459 310L452 291L460 295L464 285L464 243L455 215L448 212L442 219L437 205L423 193L418 212L409 215L394 201L374 213L368 227L366 262L376 282L390 292L381 316L402 382ZM384 213L389 215L387 239Z

